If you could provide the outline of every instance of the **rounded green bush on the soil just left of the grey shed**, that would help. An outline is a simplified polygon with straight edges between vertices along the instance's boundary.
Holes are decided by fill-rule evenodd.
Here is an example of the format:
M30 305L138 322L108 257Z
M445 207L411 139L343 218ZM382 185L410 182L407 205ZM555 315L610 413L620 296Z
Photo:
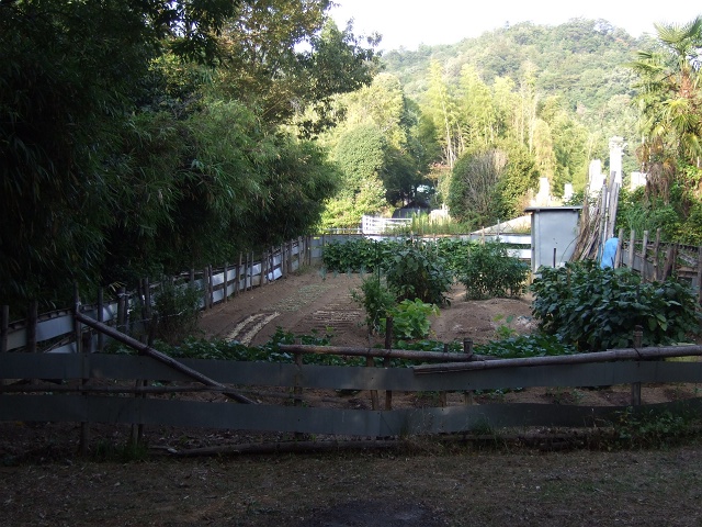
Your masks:
M519 296L529 277L529 266L509 256L497 242L471 245L457 271L467 299Z

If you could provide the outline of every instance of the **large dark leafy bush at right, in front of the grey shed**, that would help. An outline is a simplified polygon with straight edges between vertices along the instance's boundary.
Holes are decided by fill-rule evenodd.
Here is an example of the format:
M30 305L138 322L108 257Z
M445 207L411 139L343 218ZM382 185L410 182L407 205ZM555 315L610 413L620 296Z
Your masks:
M698 332L694 296L673 279L642 283L629 269L601 269L593 261L540 273L531 285L540 329L580 351L631 347L639 325L644 346L684 341Z

